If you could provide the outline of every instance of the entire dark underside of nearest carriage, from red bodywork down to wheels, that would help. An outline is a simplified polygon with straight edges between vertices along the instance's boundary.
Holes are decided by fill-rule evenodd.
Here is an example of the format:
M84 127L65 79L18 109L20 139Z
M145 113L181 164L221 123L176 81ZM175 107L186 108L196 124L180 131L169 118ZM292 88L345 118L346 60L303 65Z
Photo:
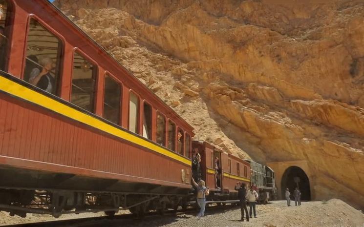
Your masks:
M1 168L0 176L0 210L21 217L38 213L58 218L100 211L114 215L120 209L139 217L150 210L163 214L171 208L186 207L189 193L188 188L36 170Z

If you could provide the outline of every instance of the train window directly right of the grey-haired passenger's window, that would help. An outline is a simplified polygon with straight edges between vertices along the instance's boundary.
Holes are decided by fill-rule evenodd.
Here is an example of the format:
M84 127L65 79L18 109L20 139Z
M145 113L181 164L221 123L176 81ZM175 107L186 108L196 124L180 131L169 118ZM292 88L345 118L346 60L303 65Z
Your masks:
M96 66L75 52L73 57L71 103L93 112L96 75Z

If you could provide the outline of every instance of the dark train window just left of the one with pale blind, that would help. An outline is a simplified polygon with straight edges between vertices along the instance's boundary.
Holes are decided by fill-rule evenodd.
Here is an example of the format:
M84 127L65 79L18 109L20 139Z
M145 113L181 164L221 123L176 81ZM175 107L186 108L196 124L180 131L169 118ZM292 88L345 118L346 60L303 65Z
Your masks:
M120 100L121 85L113 80L107 74L105 75L105 93L104 93L104 118L108 121L120 123Z

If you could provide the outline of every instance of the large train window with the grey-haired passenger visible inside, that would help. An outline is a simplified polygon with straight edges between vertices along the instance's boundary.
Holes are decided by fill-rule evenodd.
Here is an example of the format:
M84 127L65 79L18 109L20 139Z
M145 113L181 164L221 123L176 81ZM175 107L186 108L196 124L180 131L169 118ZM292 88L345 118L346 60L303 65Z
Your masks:
M23 79L58 95L62 41L35 19L30 19Z

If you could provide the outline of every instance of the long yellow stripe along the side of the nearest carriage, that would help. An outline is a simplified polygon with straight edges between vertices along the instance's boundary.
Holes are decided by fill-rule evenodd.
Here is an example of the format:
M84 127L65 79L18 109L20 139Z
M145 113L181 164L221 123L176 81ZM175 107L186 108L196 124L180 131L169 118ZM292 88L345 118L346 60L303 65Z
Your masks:
M60 103L52 98L49 98L43 94L40 94L32 89L29 89L19 83L13 82L9 79L6 79L0 75L0 90L19 97L23 100L26 100L31 103L35 103L37 105L43 106L49 110L62 114L68 118L71 118L75 121L90 125L94 128L100 129L104 132L107 132L111 135L119 137L121 139L127 140L131 143L138 144L144 146L150 150L168 156L174 160L177 160L181 163L191 165L191 160L181 157L176 153L173 153L167 149L164 149L156 144L152 144L149 141L141 139L131 133L123 131L117 127L114 127L110 124L107 124L95 117L87 115L79 110L76 110L68 105Z

